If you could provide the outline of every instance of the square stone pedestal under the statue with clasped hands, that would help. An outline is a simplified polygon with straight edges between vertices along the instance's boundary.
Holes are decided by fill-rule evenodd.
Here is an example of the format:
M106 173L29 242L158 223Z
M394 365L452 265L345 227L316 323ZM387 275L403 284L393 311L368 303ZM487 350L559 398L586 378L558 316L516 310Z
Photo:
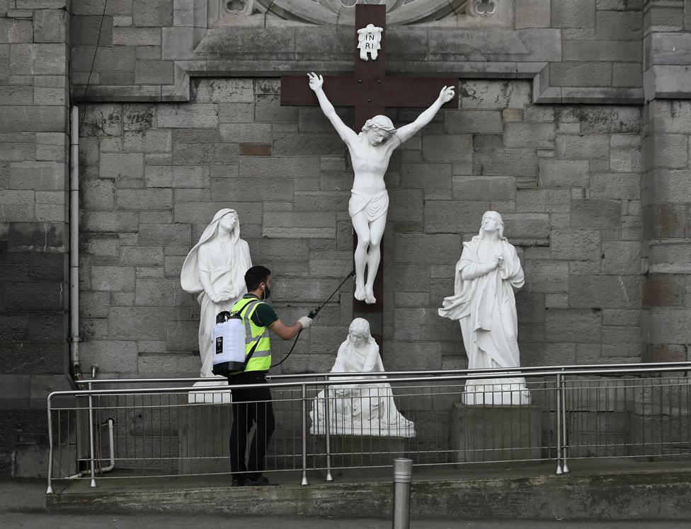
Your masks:
M542 412L537 406L457 403L451 418L451 449L458 463L542 457Z

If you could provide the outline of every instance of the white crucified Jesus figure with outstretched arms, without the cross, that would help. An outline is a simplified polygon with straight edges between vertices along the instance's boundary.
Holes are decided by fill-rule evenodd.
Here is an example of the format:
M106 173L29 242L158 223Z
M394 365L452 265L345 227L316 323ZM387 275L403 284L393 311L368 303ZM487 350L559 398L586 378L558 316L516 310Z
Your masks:
M355 249L355 299L372 304L377 301L374 283L381 260L379 244L384 236L389 209L389 194L384 185L384 173L389 166L389 159L396 147L428 124L442 105L453 98L454 90L450 86L442 88L432 106L411 124L395 129L388 117L378 115L367 120L362 132L358 134L347 127L336 114L336 110L333 110L333 105L329 103L321 88L324 79L314 73L308 77L309 88L316 93L322 112L350 152L355 178L353 189L350 191L348 214L353 220L355 233L358 234L358 247Z

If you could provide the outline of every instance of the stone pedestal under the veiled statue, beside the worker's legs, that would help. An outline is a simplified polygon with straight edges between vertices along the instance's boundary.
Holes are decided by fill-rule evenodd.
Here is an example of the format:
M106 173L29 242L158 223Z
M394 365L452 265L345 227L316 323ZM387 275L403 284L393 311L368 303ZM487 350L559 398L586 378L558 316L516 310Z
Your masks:
M182 398L187 400L186 395ZM229 404L181 405L178 408L178 472L229 472L232 424Z

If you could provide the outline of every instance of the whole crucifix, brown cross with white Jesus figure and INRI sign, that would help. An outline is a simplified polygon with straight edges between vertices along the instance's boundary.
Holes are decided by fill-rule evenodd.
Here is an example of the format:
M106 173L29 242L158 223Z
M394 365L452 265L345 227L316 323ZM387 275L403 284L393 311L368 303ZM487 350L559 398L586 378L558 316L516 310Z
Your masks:
M458 106L453 89L458 79L387 76L385 34L386 6L358 4L355 6L354 76L322 77L312 73L308 79L305 76L281 78L281 105L319 105L348 146L355 173L348 204L355 246L353 318L370 321L379 351L383 351L384 313L381 242L389 207L384 173L396 147L428 124L442 106ZM355 130L343 124L333 105L354 107ZM428 108L411 124L396 129L383 115L385 107ZM355 131L359 129L362 132L358 134Z

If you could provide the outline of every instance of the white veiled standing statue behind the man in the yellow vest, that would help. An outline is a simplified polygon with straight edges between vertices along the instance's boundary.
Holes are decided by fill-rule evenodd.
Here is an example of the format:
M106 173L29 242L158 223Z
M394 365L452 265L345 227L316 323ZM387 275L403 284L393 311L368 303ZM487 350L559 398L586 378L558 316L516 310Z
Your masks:
M245 272L252 266L249 245L240 238L234 209L221 209L185 258L180 283L185 292L198 293L200 376L212 376L212 332L216 315L230 310L247 289Z

